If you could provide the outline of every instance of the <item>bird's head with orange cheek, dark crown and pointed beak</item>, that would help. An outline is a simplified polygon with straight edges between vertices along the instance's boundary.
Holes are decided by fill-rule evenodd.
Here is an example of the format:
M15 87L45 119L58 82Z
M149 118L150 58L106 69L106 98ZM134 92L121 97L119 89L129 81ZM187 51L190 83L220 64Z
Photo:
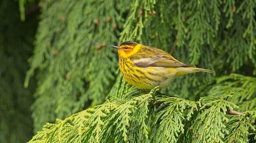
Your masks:
M138 44L133 41L125 41L120 46L110 46L112 48L117 49L118 56L122 58L126 58L138 52L141 44Z

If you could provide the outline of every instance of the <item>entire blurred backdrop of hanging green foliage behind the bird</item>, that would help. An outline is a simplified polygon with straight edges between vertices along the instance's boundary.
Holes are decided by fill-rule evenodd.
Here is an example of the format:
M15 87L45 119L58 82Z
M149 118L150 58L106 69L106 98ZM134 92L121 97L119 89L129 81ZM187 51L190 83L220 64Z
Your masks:
M255 3L42 0L40 6L41 21L24 84L27 87L37 71L32 105L35 131L45 122L103 103L106 95L120 97L127 91L129 86L121 75L115 79L117 54L108 47L125 40L171 51L181 62L214 69L217 76L231 69L244 72L245 65L251 65L251 71L256 69L251 32L256 27ZM246 73L255 74L251 71ZM161 92L190 99L191 92L213 81L212 76L184 75ZM113 85L123 90L119 92Z

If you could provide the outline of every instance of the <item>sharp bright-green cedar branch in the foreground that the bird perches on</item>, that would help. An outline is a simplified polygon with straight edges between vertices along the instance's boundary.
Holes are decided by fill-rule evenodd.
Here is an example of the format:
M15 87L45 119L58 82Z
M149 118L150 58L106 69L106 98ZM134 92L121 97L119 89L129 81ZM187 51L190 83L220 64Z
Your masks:
M177 142L180 135L191 133L197 136L195 142L224 142L232 138L248 142L256 138L256 111L240 116L225 116L226 111L238 108L227 102L228 97L233 98L233 93L222 98L203 97L194 102L161 94L157 90L155 88L148 92L132 87L122 99L111 97L95 108L64 120L57 119L58 124L47 123L30 143L149 142L149 139L150 142ZM130 94L134 96L127 99ZM186 119L183 117L185 111ZM194 112L200 114L194 115ZM154 119L155 122L151 124ZM192 120L191 133L184 132L184 122ZM180 138L179 141L187 140Z

